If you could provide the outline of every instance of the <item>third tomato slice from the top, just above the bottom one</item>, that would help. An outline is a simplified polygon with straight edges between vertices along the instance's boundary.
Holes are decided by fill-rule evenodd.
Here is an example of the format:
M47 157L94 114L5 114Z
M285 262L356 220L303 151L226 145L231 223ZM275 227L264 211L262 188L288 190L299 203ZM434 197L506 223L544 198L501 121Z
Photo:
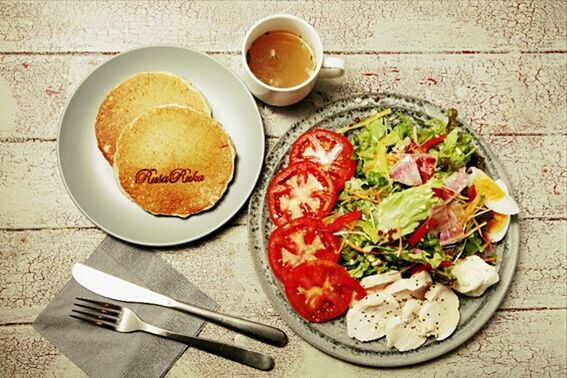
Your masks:
M268 261L285 283L289 272L311 260L339 260L339 241L321 220L302 217L278 227L268 240Z

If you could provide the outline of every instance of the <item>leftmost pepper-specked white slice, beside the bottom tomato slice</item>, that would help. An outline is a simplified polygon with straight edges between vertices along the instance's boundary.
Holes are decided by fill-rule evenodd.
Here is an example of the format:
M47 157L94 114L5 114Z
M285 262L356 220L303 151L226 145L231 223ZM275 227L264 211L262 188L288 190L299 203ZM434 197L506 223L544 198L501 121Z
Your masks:
M386 335L386 321L401 312L398 301L389 294L371 294L348 310L347 332L359 341L376 340Z

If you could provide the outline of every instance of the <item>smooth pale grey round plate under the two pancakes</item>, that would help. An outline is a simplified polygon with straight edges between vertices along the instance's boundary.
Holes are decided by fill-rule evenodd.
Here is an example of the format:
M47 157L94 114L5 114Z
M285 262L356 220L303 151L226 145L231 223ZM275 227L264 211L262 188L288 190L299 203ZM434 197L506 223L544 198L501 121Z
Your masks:
M187 219L151 215L118 188L98 150L95 118L104 96L127 77L166 71L188 79L207 98L236 150L234 179L211 210ZM58 138L59 167L71 198L97 226L128 242L169 246L201 238L227 222L254 189L264 158L264 129L256 103L227 67L199 51L145 47L117 55L94 70L69 99Z

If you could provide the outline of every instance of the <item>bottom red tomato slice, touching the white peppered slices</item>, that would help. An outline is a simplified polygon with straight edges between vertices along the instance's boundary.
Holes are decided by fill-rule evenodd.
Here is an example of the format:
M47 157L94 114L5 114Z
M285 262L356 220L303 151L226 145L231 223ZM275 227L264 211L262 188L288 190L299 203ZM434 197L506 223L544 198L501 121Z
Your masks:
M366 296L366 290L341 265L314 260L294 268L288 276L285 294L291 307L304 319L321 323L342 315L352 300Z

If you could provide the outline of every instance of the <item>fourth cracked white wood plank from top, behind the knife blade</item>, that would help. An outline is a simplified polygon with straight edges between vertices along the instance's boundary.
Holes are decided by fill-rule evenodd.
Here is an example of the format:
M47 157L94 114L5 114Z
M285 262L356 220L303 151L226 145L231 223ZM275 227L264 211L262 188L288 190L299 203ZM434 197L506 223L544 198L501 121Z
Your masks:
M521 222L520 259L501 308L565 308L566 226L565 220ZM103 238L95 229L0 231L0 325L35 319L70 279L71 266L84 261ZM254 271L245 225L159 253L225 311L279 319Z

